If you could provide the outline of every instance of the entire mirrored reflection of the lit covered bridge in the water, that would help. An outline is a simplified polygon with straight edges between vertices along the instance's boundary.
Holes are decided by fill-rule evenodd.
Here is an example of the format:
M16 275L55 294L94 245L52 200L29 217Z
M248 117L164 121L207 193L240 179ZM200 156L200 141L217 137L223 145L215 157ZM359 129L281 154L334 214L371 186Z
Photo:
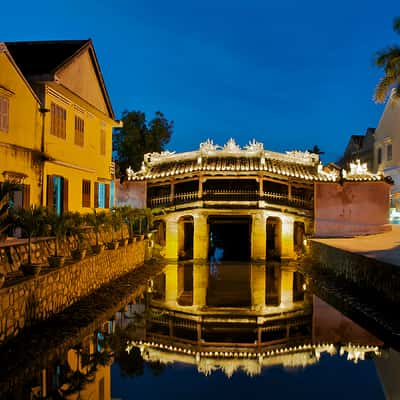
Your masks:
M322 353L380 357L384 345L279 263L170 264L150 286L141 335L127 345L149 362L253 376L265 366L316 364Z

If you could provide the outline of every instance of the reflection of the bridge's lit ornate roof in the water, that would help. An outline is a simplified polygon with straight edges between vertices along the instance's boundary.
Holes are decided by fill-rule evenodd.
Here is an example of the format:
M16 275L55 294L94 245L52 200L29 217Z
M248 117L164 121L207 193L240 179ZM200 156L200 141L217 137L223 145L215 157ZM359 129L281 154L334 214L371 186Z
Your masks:
M247 375L253 376L261 373L267 366L282 365L286 368L299 368L316 364L321 353L334 355L337 349L333 344L303 344L293 347L274 349L241 349L236 351L196 351L193 348L176 347L156 342L131 341L128 342L126 351L133 347L140 349L145 361L158 361L164 364L182 362L196 365L197 370L205 375L213 371L222 370L228 377L235 371L242 370ZM354 346L348 344L339 349L339 354L347 353L347 359L353 362L364 360L366 353L380 355L377 346Z

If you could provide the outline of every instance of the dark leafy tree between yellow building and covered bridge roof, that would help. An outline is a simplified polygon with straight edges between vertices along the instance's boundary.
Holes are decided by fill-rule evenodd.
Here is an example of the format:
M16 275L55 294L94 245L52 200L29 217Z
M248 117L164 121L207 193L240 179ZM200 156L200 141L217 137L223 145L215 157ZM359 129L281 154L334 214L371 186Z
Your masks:
M119 175L125 175L129 166L138 171L146 153L161 152L170 141L173 121L168 121L164 114L157 111L155 117L146 121L141 111L124 111L123 127L113 133L113 150L119 167Z

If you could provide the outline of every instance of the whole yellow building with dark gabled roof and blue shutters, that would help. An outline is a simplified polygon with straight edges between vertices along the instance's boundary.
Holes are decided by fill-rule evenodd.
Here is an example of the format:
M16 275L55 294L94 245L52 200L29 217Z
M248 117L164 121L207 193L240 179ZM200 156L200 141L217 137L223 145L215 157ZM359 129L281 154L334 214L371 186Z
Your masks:
M40 202L57 212L109 208L114 192L112 128L118 123L92 41L14 42L6 47L40 99ZM24 120L25 112L18 118Z

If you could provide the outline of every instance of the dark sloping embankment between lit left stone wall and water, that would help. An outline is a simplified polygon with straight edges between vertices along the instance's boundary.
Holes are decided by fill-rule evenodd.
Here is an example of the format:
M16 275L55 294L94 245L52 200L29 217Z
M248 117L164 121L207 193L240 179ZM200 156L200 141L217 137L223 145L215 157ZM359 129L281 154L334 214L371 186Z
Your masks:
M121 275L1 346L0 359L8 361L0 369L0 393L15 392L53 360L93 336L117 311L143 296L148 280L163 268L161 263L152 263Z

